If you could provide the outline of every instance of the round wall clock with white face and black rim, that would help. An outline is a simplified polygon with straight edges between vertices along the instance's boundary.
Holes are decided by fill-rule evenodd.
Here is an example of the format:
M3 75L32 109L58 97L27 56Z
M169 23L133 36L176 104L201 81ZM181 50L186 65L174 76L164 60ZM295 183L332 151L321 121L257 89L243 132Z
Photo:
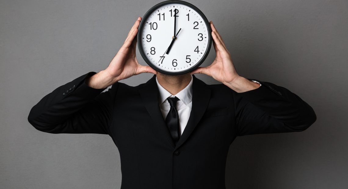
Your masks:
M167 75L196 69L208 56L211 28L204 14L185 1L164 1L143 16L137 34L146 63Z

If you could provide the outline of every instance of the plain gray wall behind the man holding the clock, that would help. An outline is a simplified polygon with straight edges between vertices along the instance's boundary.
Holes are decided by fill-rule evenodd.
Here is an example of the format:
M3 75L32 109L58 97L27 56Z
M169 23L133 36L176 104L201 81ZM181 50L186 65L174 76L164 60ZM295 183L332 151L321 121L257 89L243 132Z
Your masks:
M119 153L108 135L44 133L27 116L55 88L105 69L136 18L159 2L0 1L0 188L120 188ZM317 114L300 133L237 137L226 187L347 188L348 1L189 2L213 20L241 76L283 86ZM202 66L214 58L212 48Z

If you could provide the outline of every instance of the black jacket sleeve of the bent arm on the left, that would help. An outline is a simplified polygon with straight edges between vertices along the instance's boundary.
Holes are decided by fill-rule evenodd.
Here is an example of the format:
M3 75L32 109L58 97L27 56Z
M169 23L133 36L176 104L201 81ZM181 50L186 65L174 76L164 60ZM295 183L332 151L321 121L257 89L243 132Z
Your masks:
M28 121L35 129L47 133L109 134L114 94L118 82L105 92L89 87L89 72L56 88L30 110Z

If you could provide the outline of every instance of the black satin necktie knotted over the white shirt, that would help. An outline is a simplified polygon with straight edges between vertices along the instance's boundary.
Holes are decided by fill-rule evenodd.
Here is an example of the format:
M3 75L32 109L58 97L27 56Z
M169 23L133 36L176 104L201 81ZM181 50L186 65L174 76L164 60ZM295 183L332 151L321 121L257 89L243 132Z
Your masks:
M176 102L180 99L177 97L168 97L167 100L169 102L169 105L171 105L171 109L169 109L169 112L167 114L166 124L168 126L169 132L172 135L174 143L176 144L180 136L179 114L177 113Z

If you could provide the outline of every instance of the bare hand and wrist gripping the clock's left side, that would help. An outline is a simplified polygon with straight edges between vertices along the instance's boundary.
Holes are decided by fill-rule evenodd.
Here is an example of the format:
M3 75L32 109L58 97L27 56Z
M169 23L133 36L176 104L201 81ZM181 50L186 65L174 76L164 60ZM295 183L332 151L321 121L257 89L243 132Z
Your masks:
M135 55L137 43L136 35L141 17L139 17L130 29L128 36L120 50L111 60L109 66L86 79L86 84L95 89L107 88L119 80L126 79L140 73L153 73L157 71L150 66L142 66L138 63Z

